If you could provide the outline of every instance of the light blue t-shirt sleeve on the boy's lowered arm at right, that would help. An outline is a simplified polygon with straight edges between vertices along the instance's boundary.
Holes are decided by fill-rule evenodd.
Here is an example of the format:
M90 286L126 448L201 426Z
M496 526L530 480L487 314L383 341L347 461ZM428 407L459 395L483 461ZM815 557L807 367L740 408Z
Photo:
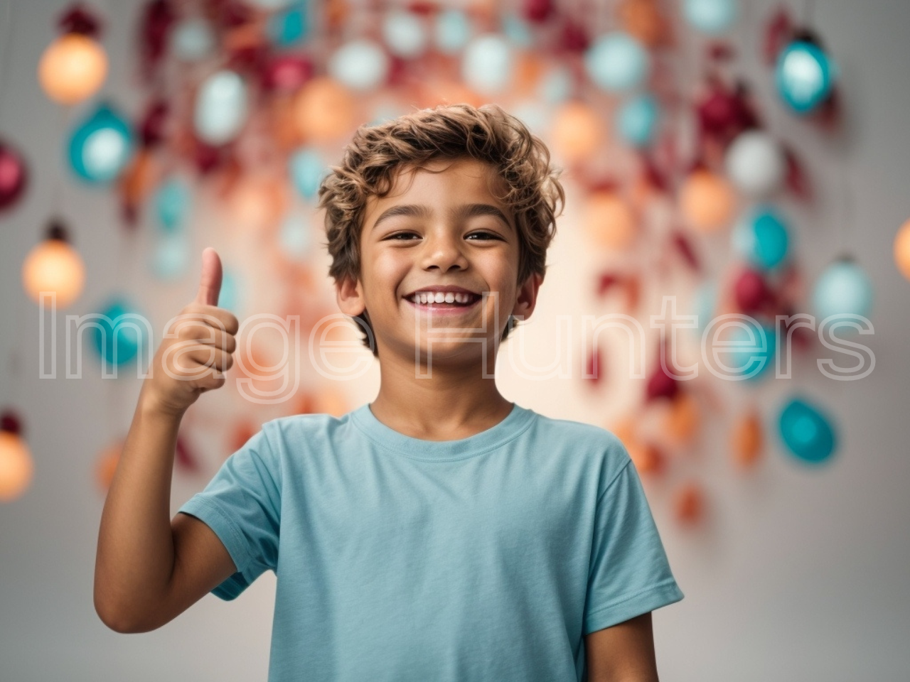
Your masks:
M598 497L582 632L587 635L680 601L642 481L625 462Z

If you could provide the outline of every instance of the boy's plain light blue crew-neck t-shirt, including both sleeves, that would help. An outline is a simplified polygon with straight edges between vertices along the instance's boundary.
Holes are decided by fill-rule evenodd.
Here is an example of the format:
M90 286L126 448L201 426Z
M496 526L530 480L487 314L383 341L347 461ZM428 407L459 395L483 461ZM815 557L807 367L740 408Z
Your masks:
M269 682L578 682L584 635L682 599L622 442L518 405L450 441L273 419L180 511L217 597L278 577Z

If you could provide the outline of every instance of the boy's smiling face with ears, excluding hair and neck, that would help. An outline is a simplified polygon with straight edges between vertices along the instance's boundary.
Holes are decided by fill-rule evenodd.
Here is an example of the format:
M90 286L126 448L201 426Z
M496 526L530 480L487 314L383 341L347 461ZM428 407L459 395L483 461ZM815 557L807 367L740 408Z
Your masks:
M426 167L432 172L399 172L389 196L369 197L360 278L339 284L339 307L369 313L380 357L387 348L413 357L415 346L424 357L430 341L434 360L479 359L484 350L489 357L509 316L531 315L541 276L517 281L518 234L511 211L490 192L490 181L499 181L491 165L465 158ZM470 292L467 302L413 296L440 286Z

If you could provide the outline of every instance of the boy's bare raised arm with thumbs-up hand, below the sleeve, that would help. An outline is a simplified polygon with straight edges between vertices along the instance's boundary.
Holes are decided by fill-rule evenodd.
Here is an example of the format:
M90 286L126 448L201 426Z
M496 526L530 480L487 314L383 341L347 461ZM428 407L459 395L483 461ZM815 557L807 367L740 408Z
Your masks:
M198 396L224 385L233 364L238 320L216 307L220 286L220 259L206 249L197 298L157 350L107 491L95 608L117 632L161 627L236 570L209 527L169 512L180 421Z

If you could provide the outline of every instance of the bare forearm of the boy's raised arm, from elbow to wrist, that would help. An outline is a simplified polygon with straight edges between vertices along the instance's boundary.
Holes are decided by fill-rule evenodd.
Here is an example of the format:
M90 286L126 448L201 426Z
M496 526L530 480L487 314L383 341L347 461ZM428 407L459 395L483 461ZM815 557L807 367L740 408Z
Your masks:
M160 409L143 390L98 532L95 604L115 629L141 621L167 594L174 569L171 475L182 415Z

